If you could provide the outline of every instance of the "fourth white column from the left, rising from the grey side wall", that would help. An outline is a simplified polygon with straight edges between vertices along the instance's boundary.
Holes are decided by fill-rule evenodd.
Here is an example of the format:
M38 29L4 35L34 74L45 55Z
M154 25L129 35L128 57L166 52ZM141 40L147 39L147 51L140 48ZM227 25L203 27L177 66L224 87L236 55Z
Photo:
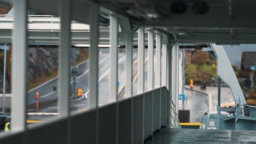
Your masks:
M118 77L118 17L110 15L110 81L109 102L117 101L117 77Z

